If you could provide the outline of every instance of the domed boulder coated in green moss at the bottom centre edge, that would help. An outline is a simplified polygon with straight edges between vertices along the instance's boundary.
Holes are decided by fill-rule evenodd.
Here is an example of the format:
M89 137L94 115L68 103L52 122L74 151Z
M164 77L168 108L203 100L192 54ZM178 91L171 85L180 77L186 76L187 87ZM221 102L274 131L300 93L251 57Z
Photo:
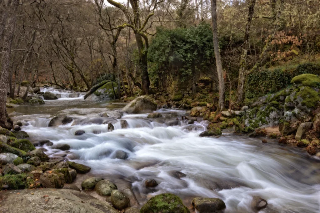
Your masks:
M190 213L182 200L174 194L159 194L151 198L140 209L140 213Z

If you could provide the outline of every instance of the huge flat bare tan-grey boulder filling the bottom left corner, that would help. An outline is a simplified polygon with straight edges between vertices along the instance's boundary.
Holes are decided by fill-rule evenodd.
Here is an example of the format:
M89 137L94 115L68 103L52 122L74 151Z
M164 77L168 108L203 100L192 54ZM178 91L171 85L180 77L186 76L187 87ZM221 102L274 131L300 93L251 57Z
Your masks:
M14 213L119 213L108 202L72 189L34 189L1 193L1 211ZM19 205L17 205L19 201ZM23 208L21 208L23 207Z

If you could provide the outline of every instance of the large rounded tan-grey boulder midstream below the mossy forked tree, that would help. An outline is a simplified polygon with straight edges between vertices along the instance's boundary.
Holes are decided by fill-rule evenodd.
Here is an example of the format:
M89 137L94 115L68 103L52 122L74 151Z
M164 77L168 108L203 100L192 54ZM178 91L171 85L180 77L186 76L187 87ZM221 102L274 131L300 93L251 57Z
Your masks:
M157 102L148 95L142 95L128 103L123 111L126 113L152 112L157 109Z

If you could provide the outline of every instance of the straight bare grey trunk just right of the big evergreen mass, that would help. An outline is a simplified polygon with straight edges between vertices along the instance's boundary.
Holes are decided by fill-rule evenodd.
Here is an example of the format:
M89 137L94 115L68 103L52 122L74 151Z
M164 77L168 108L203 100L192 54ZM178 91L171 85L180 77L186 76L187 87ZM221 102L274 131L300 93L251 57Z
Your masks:
M217 111L221 111L224 108L224 79L222 73L222 63L220 56L220 48L218 41L218 26L217 26L217 0L211 0L211 16L212 16L212 33L213 33L213 47L214 55L216 58L217 73L219 79L219 102Z

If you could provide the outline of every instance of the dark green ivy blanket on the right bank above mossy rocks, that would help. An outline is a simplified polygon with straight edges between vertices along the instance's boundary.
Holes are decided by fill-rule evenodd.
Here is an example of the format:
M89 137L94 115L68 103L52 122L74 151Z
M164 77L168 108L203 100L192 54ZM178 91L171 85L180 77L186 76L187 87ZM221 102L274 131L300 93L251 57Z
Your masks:
M250 73L245 86L245 97L257 98L264 94L276 93L291 85L291 79L301 74L320 74L320 64L304 63L297 67L279 67L276 69L262 69Z

